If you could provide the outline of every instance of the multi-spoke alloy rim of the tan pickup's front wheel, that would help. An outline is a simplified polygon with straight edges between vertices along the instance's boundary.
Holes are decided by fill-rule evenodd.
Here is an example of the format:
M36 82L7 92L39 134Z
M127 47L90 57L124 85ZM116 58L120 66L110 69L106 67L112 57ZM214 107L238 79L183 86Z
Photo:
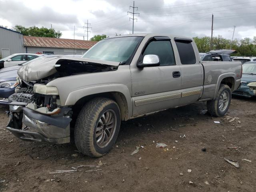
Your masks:
M97 123L95 139L100 148L108 146L116 131L116 113L114 110L106 110Z

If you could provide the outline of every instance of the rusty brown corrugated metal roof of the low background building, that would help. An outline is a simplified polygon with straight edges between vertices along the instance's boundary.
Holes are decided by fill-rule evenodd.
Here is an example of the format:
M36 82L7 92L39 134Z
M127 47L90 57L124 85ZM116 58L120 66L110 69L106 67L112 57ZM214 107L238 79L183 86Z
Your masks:
M75 49L90 49L97 41L75 40ZM74 49L74 39L23 36L25 47L50 47Z

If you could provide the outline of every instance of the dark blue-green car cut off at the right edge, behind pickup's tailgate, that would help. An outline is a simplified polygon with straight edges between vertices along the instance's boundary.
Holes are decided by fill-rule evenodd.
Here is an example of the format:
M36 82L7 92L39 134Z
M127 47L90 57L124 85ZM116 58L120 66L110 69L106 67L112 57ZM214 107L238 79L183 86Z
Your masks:
M256 96L256 61L243 64L241 86L232 94L244 97Z

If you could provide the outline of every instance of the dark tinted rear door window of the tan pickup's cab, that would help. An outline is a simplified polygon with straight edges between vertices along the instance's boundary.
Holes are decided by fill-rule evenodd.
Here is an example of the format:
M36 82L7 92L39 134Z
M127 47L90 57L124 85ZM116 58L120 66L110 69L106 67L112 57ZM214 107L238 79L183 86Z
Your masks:
M183 65L195 64L196 55L192 46L191 40L175 40L178 52L180 55L180 62Z

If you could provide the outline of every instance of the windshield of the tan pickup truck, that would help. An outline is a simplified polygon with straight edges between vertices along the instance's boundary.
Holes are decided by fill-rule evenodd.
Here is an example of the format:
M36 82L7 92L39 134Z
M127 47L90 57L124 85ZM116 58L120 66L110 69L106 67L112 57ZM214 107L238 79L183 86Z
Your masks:
M82 58L126 62L143 37L118 37L105 39L90 48Z

